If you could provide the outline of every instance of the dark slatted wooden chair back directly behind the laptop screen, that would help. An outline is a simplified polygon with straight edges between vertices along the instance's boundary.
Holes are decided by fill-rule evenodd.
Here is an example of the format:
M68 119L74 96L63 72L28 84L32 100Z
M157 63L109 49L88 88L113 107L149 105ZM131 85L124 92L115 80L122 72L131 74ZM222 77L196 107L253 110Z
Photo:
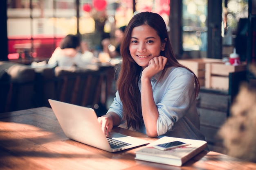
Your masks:
M106 110L105 76L100 70L56 67L56 100Z

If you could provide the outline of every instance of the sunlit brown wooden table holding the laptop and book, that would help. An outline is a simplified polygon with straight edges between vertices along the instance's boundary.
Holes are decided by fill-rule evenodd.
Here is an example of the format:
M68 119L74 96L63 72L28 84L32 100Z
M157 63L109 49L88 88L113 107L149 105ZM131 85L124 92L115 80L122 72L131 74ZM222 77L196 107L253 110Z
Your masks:
M150 138L120 127L119 133ZM135 160L135 149L108 153L65 137L51 108L0 113L0 169L49 170L245 170L256 163L202 151L182 167Z

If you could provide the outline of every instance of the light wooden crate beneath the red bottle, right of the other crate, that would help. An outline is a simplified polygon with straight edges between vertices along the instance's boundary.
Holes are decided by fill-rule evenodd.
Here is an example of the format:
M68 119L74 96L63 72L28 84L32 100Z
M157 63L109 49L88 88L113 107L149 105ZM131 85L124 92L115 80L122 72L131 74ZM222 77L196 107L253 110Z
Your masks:
M206 63L205 82L206 88L229 89L229 73L246 70L246 63L241 65L225 65L224 63Z

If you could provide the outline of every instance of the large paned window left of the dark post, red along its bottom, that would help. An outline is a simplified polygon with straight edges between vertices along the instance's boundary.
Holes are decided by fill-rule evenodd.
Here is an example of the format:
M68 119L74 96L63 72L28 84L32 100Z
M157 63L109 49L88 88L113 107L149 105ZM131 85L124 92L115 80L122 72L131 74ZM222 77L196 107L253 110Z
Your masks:
M9 59L50 57L67 34L76 34L75 0L8 0Z

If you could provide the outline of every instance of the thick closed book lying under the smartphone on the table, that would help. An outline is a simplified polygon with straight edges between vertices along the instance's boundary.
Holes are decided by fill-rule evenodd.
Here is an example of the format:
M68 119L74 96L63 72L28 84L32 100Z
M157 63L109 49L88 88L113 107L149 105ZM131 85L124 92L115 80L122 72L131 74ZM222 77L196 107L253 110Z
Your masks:
M153 145L164 144L173 141L180 141L190 145L181 146L165 151L153 148ZM173 166L182 166L186 161L200 153L205 148L207 148L207 142L203 140L164 136L157 141L148 144L144 148L136 151L135 159L156 163L164 163Z

